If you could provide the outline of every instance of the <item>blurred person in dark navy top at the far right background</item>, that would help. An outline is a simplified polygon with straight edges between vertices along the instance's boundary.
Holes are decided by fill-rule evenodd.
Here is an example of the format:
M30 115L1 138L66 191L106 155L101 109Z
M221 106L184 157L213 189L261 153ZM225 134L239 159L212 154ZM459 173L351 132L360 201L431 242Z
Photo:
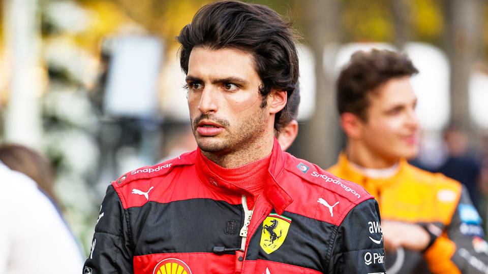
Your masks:
M444 131L444 143L447 149L447 158L435 172L440 172L463 184L468 189L469 196L478 209L481 165L468 152L466 133L460 127L451 125Z

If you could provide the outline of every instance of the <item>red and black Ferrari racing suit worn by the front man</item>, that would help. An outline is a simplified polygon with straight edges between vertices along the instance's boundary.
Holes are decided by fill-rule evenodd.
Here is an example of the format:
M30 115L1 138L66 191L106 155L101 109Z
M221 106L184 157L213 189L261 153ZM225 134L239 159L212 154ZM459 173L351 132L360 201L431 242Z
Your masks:
M250 209L250 193L212 173L203 157L193 151L113 182L84 273L385 272L383 243L370 240L382 237L378 203L362 187L282 152L275 140Z

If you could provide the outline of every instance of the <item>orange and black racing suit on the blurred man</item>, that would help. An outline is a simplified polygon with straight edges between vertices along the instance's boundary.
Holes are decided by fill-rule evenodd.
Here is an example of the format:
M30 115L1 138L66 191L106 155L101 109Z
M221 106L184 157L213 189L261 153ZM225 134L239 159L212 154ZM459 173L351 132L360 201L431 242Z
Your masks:
M403 159L398 168L391 177L369 178L342 153L339 162L327 169L374 195L383 220L419 224L431 235L431 246L423 253L403 249L388 253L387 273L488 273L488 244L466 189Z

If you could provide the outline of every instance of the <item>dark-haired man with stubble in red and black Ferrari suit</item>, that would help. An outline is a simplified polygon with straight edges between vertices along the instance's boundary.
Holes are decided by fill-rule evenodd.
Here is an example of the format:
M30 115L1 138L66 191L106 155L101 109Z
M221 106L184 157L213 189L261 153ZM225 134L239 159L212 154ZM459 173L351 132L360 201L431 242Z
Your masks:
M384 272L373 197L273 138L297 86L290 24L217 2L178 41L198 149L108 187L85 271Z

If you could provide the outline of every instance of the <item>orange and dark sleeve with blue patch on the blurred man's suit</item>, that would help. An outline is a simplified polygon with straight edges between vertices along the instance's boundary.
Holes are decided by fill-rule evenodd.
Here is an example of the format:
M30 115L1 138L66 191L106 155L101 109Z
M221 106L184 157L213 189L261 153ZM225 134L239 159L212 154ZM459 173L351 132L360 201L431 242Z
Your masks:
M451 223L424 252L424 258L433 273L488 273L488 244L481 218L464 186Z

